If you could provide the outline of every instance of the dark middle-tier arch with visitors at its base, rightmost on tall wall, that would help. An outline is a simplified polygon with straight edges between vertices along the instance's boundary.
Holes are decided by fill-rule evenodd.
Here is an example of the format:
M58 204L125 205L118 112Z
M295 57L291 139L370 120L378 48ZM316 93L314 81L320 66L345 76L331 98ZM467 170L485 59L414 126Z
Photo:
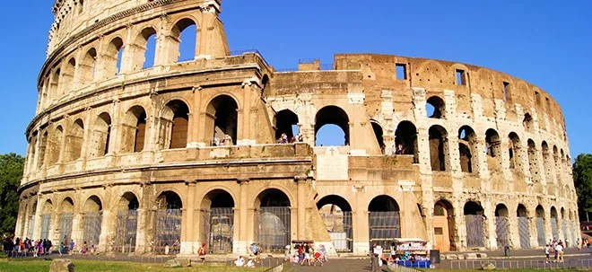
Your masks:
M214 98L206 108L206 139L214 146L235 145L237 143L239 106L228 95Z

